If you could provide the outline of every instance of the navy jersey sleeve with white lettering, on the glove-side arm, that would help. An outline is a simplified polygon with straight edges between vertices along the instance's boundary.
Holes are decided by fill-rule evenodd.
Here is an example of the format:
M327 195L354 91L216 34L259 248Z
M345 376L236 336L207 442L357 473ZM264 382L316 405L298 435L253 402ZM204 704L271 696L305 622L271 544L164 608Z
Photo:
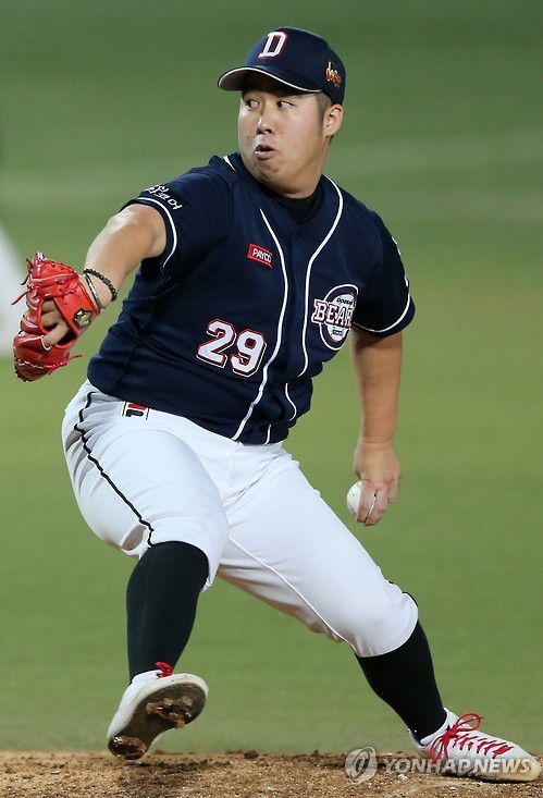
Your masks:
M126 205L134 202L156 208L164 221L166 245L156 263L168 274L175 275L187 260L226 238L231 229L230 188L206 169L150 186Z

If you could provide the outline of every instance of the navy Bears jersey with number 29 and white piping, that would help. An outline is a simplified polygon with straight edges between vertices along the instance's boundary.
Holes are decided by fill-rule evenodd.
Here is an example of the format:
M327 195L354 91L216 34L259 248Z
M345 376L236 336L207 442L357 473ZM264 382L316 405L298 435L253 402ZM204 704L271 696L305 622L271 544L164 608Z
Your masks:
M237 154L143 192L166 247L138 269L89 380L244 443L286 438L351 324L385 336L415 312L381 219L328 177L321 193L298 223Z

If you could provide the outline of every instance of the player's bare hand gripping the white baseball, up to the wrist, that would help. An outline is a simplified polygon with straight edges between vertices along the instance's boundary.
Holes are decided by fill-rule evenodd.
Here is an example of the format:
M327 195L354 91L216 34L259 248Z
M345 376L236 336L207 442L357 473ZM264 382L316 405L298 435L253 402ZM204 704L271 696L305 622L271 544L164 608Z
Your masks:
M355 452L354 468L362 488L356 518L366 527L375 526L398 495L402 466L392 443L361 440Z

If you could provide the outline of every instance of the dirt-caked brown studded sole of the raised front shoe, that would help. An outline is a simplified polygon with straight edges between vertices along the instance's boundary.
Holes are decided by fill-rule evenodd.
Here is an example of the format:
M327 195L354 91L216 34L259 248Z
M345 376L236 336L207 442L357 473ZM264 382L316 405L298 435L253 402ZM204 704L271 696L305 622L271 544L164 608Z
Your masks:
M121 759L139 759L157 737L183 728L202 711L207 693L196 682L182 682L153 690L136 704L129 721L110 737L108 748Z

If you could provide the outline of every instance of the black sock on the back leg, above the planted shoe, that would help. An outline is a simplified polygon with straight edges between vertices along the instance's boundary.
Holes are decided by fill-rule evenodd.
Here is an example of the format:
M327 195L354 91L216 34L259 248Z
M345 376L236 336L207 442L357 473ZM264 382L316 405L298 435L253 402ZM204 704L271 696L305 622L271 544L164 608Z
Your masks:
M430 647L419 623L399 649L356 659L372 690L392 707L417 739L443 725L446 714L435 684Z

